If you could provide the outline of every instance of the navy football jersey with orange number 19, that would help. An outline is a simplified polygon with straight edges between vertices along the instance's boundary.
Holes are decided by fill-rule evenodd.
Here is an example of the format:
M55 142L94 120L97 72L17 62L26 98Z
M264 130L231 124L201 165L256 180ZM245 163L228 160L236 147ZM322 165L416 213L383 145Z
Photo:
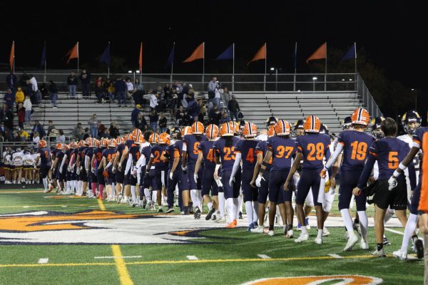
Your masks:
M343 145L341 170L362 170L375 138L364 132L344 130L337 136L337 143Z

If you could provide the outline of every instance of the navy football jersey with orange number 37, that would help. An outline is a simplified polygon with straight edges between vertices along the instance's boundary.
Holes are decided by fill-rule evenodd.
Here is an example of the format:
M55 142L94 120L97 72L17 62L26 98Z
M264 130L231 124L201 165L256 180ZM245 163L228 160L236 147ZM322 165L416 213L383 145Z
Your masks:
M277 136L267 139L267 149L272 151L272 168L270 171L290 168L292 157L297 152L295 139Z

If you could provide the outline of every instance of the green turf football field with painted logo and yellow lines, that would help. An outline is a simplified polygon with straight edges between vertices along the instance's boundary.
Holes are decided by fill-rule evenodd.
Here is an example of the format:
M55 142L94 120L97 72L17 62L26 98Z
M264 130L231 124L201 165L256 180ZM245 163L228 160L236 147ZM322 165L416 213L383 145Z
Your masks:
M238 226L243 227L224 229L225 224L205 219L5 186L0 188L0 284L244 284L314 275L423 282L422 261L391 257L401 244L397 233L387 232L389 257L377 259L370 256L372 228L370 251L356 245L342 252L342 227L329 227L331 235L320 246L312 242L313 228L309 241L295 244L279 227L275 237L268 237L246 232L242 222ZM295 279L266 282L297 284Z

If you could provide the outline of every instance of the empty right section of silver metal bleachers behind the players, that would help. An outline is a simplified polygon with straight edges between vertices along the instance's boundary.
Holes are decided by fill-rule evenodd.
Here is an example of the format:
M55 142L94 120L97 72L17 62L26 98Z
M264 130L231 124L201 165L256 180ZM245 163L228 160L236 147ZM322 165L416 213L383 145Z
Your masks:
M244 120L265 126L273 115L295 123L317 115L330 132L340 132L340 121L362 105L357 92L235 92Z

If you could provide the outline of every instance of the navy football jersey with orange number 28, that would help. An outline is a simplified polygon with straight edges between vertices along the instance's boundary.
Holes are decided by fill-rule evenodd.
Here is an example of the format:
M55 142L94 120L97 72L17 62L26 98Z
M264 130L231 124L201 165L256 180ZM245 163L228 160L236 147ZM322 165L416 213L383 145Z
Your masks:
M330 137L320 133L300 135L296 140L297 151L302 152L302 169L322 168L324 156L330 157Z

